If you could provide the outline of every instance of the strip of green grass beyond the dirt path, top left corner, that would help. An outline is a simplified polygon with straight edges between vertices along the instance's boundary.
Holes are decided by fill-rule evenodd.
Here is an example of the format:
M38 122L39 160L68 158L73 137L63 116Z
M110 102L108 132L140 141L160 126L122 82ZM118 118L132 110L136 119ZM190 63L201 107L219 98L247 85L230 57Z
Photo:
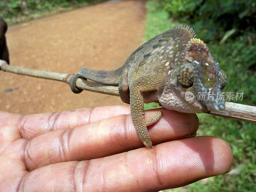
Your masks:
M101 1L104 0L1 0L0 17L13 24Z

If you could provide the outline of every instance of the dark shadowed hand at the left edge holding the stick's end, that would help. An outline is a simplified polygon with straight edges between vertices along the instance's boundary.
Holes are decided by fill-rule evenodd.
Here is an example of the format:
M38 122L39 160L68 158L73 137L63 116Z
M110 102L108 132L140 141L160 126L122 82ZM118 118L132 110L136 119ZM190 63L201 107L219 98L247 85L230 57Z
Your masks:
M7 31L7 24L0 17L0 59L5 60L9 64L9 52L6 44L5 33Z

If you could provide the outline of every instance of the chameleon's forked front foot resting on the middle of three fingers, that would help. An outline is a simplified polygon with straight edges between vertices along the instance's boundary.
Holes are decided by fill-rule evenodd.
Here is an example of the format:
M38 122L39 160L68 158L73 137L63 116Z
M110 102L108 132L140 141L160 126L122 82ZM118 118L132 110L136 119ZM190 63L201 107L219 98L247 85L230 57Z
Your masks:
M161 116L162 116L162 111L157 111L155 113L152 113L146 116L144 124L141 124L141 125L134 124L140 140L148 148L152 148L152 142L148 135L147 126L156 123L161 118Z

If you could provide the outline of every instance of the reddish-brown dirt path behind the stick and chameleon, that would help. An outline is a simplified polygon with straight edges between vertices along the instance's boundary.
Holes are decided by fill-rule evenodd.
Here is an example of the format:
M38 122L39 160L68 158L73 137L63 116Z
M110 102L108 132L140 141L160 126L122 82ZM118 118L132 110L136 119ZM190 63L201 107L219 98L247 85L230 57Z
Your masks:
M143 1L110 1L9 26L11 65L60 73L115 69L143 43ZM34 114L123 105L119 97L71 92L63 82L0 71L0 110Z

